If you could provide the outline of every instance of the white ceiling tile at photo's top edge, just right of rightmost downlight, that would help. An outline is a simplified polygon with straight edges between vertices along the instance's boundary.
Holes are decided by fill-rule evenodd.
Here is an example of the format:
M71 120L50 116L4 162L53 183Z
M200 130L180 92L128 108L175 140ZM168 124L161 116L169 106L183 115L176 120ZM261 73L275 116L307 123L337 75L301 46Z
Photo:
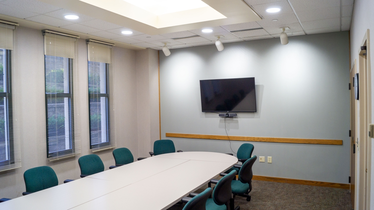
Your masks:
M296 13L306 10L340 7L340 0L290 0Z

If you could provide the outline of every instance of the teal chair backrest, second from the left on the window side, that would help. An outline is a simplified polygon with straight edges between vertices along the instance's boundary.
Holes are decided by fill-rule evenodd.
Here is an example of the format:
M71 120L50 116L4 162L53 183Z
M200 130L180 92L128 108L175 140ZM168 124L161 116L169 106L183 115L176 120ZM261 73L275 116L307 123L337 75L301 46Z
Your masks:
M81 175L93 175L104 171L104 164L100 157L95 154L80 157L78 163Z

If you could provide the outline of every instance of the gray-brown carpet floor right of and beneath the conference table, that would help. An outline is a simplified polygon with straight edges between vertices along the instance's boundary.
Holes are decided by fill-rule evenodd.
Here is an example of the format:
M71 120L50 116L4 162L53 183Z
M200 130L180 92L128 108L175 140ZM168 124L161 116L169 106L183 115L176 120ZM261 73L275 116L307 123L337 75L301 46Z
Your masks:
M252 197L249 202L237 196L235 206L241 210L352 210L347 189L252 180L249 195ZM183 205L175 204L169 210L181 210Z

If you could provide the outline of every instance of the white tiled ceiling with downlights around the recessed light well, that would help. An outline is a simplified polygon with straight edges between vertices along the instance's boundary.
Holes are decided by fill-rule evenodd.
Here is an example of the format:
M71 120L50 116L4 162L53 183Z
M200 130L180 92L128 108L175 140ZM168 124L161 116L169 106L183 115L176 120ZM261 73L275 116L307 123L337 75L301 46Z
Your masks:
M245 1L263 17L261 21L211 27L213 32L208 34L196 29L148 35L37 0L0 0L0 14L157 50L161 49L163 42L169 42L170 48L214 44L216 35L223 35L222 42L279 37L281 27L290 28L286 30L288 35L347 31L350 28L353 0ZM270 7L279 7L281 11L266 12ZM64 15L68 14L76 14L80 18L67 20ZM274 19L278 21L273 21ZM121 33L124 30L133 31L133 34L124 35ZM172 39L180 37L190 38Z

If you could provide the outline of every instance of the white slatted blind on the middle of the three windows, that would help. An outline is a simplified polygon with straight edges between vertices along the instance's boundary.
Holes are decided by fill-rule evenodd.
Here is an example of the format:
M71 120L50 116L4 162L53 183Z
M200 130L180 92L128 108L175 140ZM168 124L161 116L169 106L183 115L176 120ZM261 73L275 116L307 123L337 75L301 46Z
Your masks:
M81 153L77 38L59 34L44 32L49 161Z

